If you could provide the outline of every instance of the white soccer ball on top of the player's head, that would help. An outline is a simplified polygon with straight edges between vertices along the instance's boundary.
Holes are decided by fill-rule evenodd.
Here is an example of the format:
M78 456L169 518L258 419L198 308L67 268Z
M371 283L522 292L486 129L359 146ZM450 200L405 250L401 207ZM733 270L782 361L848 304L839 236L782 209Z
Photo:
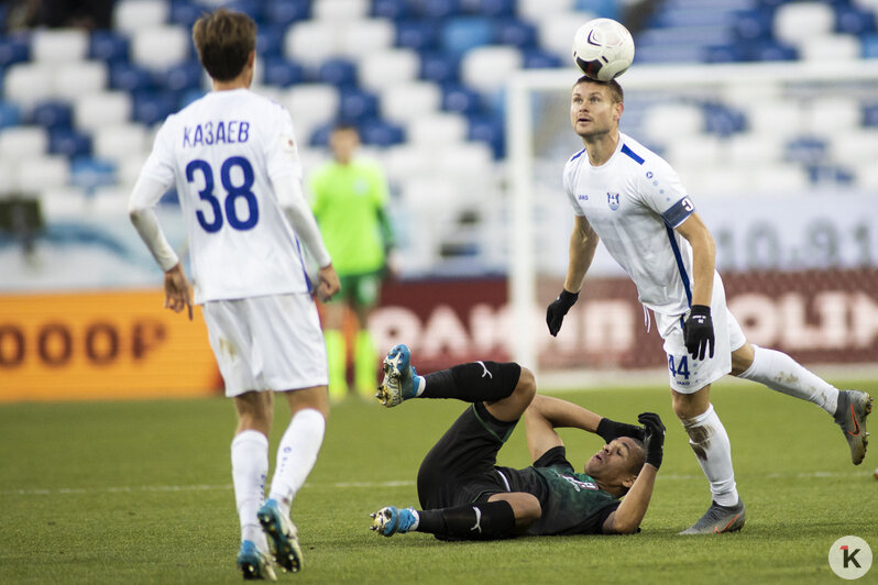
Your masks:
M632 33L613 19L589 21L573 35L573 62L592 79L610 81L627 71L632 60Z

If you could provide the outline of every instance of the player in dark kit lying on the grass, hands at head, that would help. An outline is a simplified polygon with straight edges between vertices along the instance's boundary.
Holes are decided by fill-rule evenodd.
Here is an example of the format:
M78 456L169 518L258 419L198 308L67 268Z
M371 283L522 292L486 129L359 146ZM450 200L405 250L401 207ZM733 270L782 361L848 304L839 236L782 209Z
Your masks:
M536 395L534 375L515 363L473 362L418 376L410 361L405 345L387 353L376 394L384 406L409 398L458 398L472 406L420 465L422 509L382 508L372 515L372 530L385 537L429 532L441 540L638 530L661 464L665 426L658 415L640 415L640 428ZM522 415L534 465L497 466L497 452ZM585 463L584 473L567 460L555 431L562 427L606 441Z

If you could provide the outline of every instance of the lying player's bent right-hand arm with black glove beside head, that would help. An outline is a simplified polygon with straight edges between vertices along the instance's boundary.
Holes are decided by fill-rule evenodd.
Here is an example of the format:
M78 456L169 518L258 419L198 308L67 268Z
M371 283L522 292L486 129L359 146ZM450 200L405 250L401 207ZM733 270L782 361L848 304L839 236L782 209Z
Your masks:
M656 474L661 466L665 451L665 424L655 412L644 412L637 420L644 426L644 451L646 463L625 495L618 508L604 520L605 534L630 534L637 531L646 516Z

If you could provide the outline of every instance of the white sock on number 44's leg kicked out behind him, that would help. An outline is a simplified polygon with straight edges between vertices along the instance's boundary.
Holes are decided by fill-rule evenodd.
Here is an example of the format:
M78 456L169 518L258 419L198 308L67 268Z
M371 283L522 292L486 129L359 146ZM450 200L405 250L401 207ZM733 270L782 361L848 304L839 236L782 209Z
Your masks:
M814 402L833 416L838 407L838 388L819 378L786 353L775 350L754 345L753 365L738 377Z

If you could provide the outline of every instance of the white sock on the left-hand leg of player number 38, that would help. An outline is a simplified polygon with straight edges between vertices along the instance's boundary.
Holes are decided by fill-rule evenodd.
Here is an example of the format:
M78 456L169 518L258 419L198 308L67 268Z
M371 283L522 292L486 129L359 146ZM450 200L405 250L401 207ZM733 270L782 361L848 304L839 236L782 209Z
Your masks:
M232 483L241 540L252 540L262 551L268 543L256 512L262 506L263 486L268 474L268 439L259 431L246 430L232 440Z

